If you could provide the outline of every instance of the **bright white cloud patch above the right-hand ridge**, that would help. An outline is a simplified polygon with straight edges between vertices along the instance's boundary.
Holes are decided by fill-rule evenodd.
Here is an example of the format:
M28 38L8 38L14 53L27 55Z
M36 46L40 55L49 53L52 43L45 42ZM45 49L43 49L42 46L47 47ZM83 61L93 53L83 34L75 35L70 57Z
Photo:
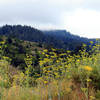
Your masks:
M64 14L65 27L72 33L90 38L100 38L100 12L77 9Z

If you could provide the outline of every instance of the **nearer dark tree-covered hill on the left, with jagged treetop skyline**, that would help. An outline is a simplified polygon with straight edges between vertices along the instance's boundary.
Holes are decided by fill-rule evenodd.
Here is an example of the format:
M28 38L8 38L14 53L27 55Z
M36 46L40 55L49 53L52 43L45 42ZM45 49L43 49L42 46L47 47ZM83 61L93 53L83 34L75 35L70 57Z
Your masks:
M45 39L44 34L30 26L21 25L5 25L0 27L0 35L17 37L21 40L42 42Z

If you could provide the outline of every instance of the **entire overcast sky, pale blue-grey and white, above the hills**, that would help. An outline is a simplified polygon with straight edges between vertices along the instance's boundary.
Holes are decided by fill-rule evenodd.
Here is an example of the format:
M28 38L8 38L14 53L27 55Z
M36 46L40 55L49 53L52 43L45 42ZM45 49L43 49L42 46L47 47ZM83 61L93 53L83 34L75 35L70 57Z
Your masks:
M0 26L5 24L100 38L100 0L0 0Z

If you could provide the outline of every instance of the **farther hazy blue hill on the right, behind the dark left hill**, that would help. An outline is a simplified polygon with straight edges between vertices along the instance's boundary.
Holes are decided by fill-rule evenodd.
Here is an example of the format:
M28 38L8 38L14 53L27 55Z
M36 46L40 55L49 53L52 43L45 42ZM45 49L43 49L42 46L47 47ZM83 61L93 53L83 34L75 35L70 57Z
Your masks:
M52 36L56 41L59 41L61 48L75 50L83 43L89 45L90 39L76 36L66 30L50 30L43 31L46 36Z

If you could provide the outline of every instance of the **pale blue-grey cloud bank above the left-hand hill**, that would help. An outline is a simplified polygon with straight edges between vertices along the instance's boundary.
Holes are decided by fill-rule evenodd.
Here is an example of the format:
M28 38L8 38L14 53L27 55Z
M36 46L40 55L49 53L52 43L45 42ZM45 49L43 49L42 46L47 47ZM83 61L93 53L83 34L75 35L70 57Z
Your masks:
M21 0L20 0L21 1ZM1 22L33 22L33 23L57 23L59 17L58 11L55 7L45 4L45 2L26 0L4 2L3 6L0 6ZM48 7L49 6L49 7ZM54 14L55 13L55 14Z

